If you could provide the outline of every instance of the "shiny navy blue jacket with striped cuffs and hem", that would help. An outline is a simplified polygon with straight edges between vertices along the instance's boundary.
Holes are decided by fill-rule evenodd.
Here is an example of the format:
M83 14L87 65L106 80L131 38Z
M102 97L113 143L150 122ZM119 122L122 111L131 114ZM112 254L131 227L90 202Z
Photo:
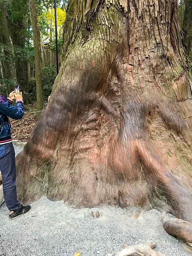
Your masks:
M21 119L24 114L24 106L21 100L17 100L16 106L12 106L13 101L0 95L0 144L8 143L12 140L12 128L8 117Z

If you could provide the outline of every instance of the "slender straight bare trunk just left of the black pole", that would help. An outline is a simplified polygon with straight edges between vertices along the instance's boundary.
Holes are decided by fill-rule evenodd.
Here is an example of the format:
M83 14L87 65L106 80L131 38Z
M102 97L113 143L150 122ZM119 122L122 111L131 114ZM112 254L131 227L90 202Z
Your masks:
M33 28L33 42L35 52L35 70L36 70L36 97L37 97L37 111L43 109L43 90L41 85L41 51L40 51L40 34L37 25L36 15L36 0L31 0L31 20ZM40 113L37 113L37 119L39 119Z

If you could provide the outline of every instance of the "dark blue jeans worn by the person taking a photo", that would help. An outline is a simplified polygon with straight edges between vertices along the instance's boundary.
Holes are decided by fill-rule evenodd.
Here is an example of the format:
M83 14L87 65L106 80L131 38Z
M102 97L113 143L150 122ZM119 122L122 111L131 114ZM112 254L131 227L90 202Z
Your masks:
M12 143L0 145L0 171L3 181L4 200L10 211L20 210L15 184L15 150Z

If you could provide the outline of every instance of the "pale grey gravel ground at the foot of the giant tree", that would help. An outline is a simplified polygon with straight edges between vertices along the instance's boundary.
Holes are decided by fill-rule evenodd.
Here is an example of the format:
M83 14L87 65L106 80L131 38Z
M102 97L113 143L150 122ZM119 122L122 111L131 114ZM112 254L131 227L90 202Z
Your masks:
M73 256L78 251L81 256L105 256L122 250L124 244L148 240L156 242L156 250L166 256L189 255L164 231L157 210L143 212L133 220L134 209L75 209L46 197L31 206L30 212L17 220L9 220L5 205L0 208L0 256ZM92 217L96 210L101 214L98 219Z

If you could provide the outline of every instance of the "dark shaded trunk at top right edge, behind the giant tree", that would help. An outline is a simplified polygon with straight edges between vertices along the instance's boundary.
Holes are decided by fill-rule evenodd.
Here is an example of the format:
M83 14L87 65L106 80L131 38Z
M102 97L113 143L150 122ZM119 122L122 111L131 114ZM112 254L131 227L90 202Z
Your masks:
M185 47L192 61L192 0L185 0L185 13L183 20L183 31L185 33Z

